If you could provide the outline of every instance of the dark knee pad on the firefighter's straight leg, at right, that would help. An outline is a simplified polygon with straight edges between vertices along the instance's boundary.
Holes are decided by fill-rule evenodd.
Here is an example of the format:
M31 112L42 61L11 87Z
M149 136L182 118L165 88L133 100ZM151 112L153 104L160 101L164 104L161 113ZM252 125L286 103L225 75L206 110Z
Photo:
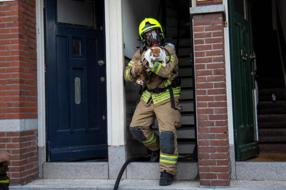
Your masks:
M163 131L160 134L160 149L162 153L165 154L174 154L175 144L174 144L175 135L172 131Z

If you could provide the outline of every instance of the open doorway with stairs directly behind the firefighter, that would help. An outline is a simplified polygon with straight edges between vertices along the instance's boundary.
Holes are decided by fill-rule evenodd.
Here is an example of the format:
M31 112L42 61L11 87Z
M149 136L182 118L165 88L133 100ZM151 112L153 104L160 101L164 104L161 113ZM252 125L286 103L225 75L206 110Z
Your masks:
M182 127L177 128L178 162L197 161L196 148L196 118L195 99L193 91L193 50L192 50L192 20L190 19L191 2L189 0L160 0L137 2L123 0L123 23L124 23L124 55L125 66L139 49L141 42L138 39L139 24L145 18L154 18L164 27L166 42L174 44L178 57L179 78L182 80L180 104ZM151 1L150 1L151 2ZM137 10L134 12L134 10ZM136 48L138 47L138 48ZM130 133L129 125L135 111L138 98L139 85L125 83L126 93L126 133L127 147L131 157L148 155L148 149L138 142ZM152 129L159 134L158 122L154 121Z

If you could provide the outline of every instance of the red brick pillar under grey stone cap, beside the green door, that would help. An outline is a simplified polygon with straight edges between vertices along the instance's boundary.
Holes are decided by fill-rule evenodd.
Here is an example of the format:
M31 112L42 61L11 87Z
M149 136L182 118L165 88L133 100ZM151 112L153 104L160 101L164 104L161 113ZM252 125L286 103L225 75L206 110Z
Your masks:
M193 15L200 185L229 186L222 13Z

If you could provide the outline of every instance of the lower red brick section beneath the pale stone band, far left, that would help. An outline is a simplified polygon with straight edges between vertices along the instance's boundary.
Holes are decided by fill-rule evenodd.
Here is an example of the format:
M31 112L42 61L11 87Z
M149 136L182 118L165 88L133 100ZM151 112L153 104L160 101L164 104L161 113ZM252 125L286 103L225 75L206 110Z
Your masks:
M8 173L11 184L28 183L38 177L37 132L0 132L1 150L11 154Z

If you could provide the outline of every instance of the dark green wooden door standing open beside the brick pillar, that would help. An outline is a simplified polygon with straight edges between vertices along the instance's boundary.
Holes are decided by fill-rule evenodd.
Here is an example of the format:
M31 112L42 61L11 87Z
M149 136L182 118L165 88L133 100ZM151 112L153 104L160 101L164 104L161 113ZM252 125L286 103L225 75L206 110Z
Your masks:
M259 154L256 142L250 2L229 0L233 127L236 160Z

